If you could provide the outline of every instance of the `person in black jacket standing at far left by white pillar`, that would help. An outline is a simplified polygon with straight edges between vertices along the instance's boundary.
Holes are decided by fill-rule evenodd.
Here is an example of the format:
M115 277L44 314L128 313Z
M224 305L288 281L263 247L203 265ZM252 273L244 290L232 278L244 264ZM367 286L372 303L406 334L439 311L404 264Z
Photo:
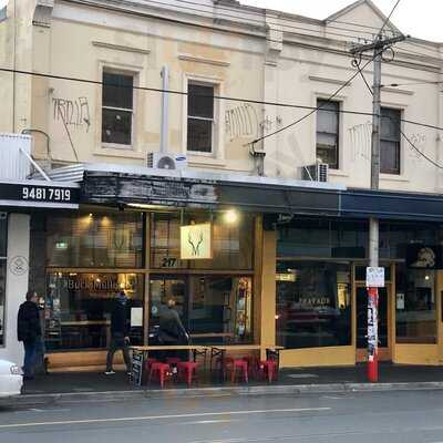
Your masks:
M41 340L40 312L37 305L37 293L30 289L27 292L27 301L19 308L17 318L17 337L23 342L24 362L23 375L24 379L32 379L34 373L35 353L39 341Z

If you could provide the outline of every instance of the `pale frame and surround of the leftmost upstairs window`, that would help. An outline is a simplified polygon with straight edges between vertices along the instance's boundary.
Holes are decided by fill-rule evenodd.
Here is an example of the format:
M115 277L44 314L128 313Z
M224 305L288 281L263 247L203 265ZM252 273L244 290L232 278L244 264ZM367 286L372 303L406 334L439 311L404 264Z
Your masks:
M115 63L101 63L100 64L100 81L103 82L103 74L121 74L121 75L131 75L133 78L133 100L132 100L132 110L124 107L113 107L113 106L104 106L103 105L103 90L99 89L99 104L100 104L100 125L97 125L97 138L100 141L100 145L104 150L119 150L119 151L135 151L136 146L136 126L137 126L137 113L136 113L136 90L134 87L138 86L140 81L140 72L142 68L135 66L126 66L126 65L117 65ZM106 143L102 141L102 131L103 131L103 109L115 110L115 111L130 111L132 113L131 116L131 144L125 145L121 143Z

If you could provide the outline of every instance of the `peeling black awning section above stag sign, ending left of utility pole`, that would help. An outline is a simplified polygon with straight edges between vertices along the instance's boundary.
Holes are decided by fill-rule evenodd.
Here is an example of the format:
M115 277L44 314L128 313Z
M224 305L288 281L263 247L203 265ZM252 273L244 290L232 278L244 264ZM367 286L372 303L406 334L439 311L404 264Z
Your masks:
M84 173L82 187L82 203L105 205L233 206L260 213L338 216L339 202L336 189L90 171Z

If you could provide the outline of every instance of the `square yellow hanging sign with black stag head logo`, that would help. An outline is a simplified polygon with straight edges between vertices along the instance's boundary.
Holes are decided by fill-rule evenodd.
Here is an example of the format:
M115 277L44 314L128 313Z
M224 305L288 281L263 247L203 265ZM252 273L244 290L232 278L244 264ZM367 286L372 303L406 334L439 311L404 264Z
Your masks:
M210 223L181 227L182 260L213 258L213 226Z

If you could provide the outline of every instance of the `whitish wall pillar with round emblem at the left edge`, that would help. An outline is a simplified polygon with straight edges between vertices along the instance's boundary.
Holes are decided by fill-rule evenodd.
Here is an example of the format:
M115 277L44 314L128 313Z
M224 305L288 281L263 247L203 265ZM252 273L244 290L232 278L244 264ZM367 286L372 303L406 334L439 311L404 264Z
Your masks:
M0 359L7 359L16 364L22 363L23 347L17 340L17 313L24 301L28 290L29 267L18 275L13 272L13 260L22 258L29 262L29 222L25 214L10 214L8 219L8 270L6 290L6 346L0 347Z

